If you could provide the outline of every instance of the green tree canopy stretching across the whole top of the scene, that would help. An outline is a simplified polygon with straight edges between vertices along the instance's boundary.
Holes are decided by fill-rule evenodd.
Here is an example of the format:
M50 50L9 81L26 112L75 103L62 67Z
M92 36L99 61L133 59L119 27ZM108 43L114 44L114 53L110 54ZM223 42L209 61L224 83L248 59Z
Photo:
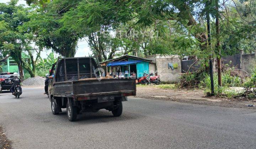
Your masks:
M209 54L218 56L218 41L221 56L252 53L256 48L255 1L26 1L27 7L17 5L17 0L0 4L1 53L11 54L17 62L22 51L31 55L32 42L40 50L46 48L72 57L80 39L86 40L99 61L123 54L178 54L208 59ZM206 12L211 16L210 47ZM220 33L215 28L217 16ZM32 59L30 62L34 63ZM29 70L30 66L23 63L21 67Z

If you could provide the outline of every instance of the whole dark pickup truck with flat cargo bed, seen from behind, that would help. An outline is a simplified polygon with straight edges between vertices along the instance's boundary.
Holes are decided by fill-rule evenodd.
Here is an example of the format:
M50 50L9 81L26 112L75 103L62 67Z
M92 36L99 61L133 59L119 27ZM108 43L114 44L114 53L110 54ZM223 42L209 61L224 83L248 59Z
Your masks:
M102 68L94 57L60 58L52 66L48 93L54 115L66 108L69 121L75 121L82 112L112 111L122 114L122 101L136 94L135 80L101 77Z

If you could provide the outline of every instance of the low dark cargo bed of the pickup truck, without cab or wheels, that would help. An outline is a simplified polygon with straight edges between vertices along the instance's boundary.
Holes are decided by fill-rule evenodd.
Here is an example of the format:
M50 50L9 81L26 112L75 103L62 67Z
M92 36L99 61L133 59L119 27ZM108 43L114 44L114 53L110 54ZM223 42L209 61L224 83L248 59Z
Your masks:
M136 92L134 79L102 78L98 80L81 79L79 81L56 82L53 84L55 96L99 96Z

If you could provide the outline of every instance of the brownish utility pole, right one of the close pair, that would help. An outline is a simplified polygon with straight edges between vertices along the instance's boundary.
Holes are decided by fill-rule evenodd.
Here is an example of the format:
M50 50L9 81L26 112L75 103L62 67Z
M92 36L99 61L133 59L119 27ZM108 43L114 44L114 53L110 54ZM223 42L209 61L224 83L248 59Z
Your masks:
M222 76L221 76L221 53L220 53L220 27L219 27L219 4L218 0L215 0L215 9L216 9L216 21L215 21L215 27L216 27L216 39L217 39L217 45L216 49L218 50L218 57L217 57L217 66L218 66L218 85L222 86Z

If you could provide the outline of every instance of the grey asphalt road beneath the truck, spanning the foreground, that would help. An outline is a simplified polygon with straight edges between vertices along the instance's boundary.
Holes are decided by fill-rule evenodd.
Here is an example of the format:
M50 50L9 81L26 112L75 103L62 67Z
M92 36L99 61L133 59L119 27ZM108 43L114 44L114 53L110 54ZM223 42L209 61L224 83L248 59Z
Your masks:
M256 148L254 110L128 98L121 117L100 110L69 122L42 93L0 94L0 122L14 148Z

